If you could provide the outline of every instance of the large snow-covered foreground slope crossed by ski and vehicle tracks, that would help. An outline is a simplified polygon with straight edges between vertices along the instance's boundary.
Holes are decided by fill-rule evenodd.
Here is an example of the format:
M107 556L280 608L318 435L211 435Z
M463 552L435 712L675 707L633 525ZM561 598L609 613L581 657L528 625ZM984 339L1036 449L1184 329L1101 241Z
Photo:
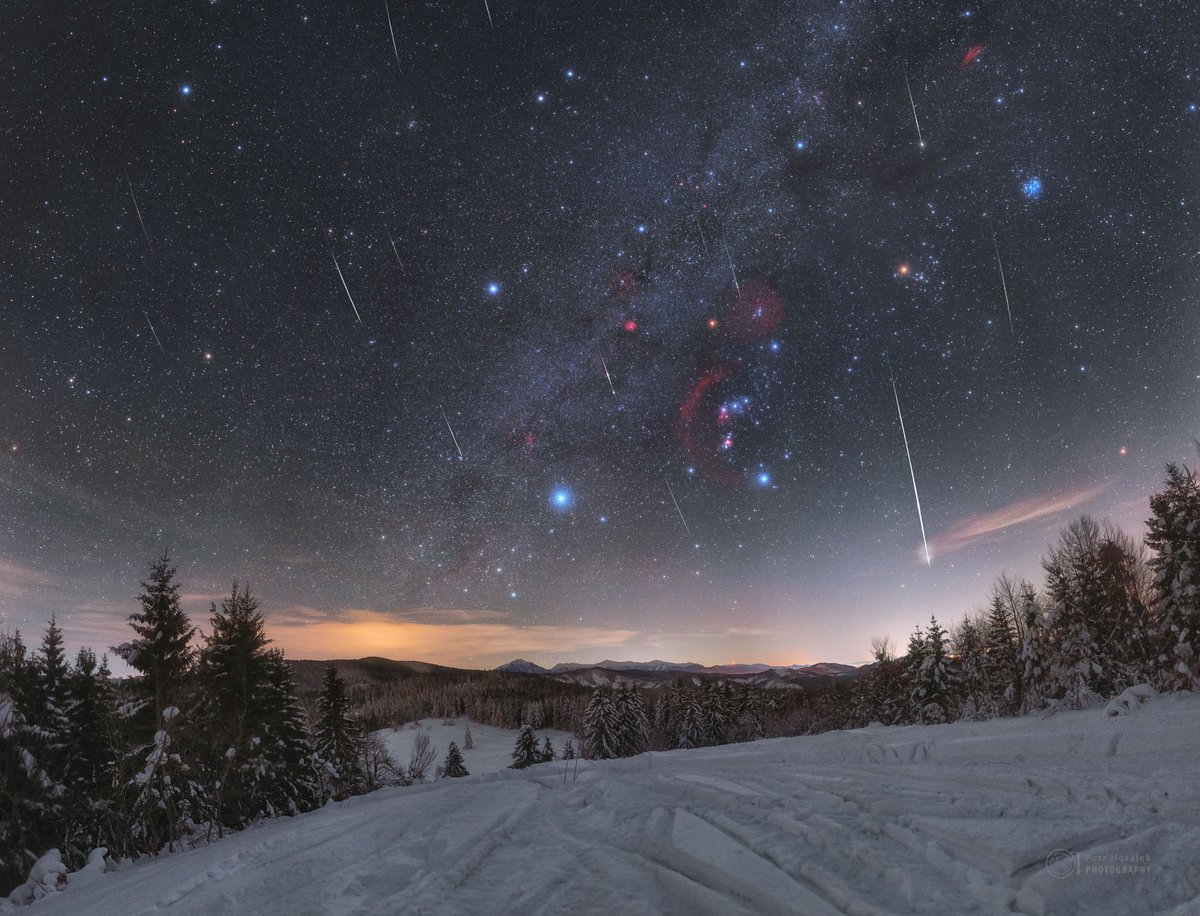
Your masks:
M31 916L1190 916L1198 761L1200 695L581 761L565 782L559 761L88 875Z

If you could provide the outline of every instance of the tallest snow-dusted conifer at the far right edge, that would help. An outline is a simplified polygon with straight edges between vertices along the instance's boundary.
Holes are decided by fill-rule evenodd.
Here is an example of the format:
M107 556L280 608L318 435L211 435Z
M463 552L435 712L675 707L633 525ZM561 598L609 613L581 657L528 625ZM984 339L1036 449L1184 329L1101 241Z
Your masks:
M1166 466L1150 499L1146 545L1162 611L1159 658L1164 685L1200 689L1200 475Z

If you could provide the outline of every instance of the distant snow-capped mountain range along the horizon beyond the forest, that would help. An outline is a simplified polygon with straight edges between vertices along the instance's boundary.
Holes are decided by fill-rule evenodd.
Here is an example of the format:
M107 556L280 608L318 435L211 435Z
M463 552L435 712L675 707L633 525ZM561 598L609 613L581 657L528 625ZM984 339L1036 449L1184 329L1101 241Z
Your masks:
M578 661L560 661L553 667L542 667L523 658L500 665L497 671L518 675L539 675L556 681L577 684L629 684L631 687L661 687L677 679L685 683L720 679L734 683L746 683L754 687L794 688L815 687L818 683L858 677L870 665L856 667L835 661L820 661L815 665L700 665L695 661L613 661L605 659L594 665Z

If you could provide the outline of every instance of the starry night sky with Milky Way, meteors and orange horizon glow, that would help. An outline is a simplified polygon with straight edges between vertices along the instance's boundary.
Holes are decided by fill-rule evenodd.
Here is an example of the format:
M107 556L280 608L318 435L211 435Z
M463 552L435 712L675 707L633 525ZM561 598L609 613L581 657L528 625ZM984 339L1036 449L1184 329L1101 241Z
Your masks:
M1140 535L1200 433L1198 34L20 4L0 625L113 645L167 549L300 657L862 661Z

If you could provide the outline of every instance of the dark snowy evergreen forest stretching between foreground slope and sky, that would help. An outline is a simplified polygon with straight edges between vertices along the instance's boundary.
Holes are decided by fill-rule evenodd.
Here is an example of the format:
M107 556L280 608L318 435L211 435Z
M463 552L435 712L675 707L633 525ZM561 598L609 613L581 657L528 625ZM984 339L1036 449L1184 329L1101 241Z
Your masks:
M533 731L578 736L592 759L902 725L1049 714L1126 690L1200 688L1200 477L1168 466L1135 538L1087 516L1042 561L1040 586L1001 576L985 610L918 627L902 654L808 690L716 679L664 689L582 688L527 675L439 669L348 685L334 665L300 689L236 582L200 634L167 556L151 564L114 678L89 648L68 659L52 619L38 646L0 635L0 894L58 849L65 867L194 845L329 800L466 774L388 759L373 731L428 718L521 729L514 766L553 758ZM301 663L312 665L313 663ZM458 750L455 748L455 753ZM469 762L469 761L468 761Z

